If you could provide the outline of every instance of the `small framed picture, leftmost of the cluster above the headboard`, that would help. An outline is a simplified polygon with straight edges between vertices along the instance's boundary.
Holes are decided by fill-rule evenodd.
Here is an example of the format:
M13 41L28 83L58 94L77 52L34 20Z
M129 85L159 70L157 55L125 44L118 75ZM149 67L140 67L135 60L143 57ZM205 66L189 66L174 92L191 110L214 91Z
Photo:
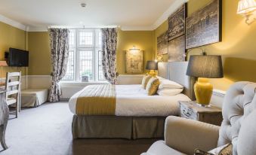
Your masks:
M157 55L161 56L167 53L168 53L168 32L165 32L157 38Z

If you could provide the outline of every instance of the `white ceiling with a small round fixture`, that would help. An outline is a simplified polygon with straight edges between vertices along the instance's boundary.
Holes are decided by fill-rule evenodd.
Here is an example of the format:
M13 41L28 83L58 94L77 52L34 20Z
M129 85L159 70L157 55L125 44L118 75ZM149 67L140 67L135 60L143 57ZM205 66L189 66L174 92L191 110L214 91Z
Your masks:
M48 26L153 29L180 0L0 0L0 14L30 29ZM86 7L82 8L81 3ZM173 10L173 8L172 8ZM166 19L165 19L166 20Z

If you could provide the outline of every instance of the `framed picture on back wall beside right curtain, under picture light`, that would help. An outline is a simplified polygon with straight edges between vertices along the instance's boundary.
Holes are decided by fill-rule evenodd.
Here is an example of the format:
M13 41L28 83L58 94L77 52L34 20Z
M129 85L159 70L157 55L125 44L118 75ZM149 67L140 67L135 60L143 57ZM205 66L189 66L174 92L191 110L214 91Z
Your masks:
M125 71L130 74L143 73L143 50L125 51Z

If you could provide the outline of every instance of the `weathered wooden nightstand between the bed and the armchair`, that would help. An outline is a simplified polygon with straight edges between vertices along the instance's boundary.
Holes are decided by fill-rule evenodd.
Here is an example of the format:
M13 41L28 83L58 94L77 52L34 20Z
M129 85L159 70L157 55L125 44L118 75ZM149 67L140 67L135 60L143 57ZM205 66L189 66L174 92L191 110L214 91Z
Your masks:
M196 102L193 101L179 101L179 103L180 117L221 126L223 120L221 108L216 108L214 106L206 108L197 105Z

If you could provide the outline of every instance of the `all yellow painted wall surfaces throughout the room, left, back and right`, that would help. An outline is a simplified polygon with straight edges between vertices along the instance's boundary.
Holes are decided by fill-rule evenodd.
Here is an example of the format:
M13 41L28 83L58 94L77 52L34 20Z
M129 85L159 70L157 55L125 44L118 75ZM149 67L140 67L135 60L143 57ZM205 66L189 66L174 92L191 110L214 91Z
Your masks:
M211 0L190 0L188 15L202 8ZM247 26L244 17L236 14L239 0L223 0L223 35L220 43L204 46L208 54L218 54L224 60L224 78L211 79L215 89L227 90L235 81L256 82L256 23ZM125 52L133 45L144 50L143 64L156 57L156 38L168 29L165 21L154 31L119 30L117 68L125 74ZM28 36L26 35L28 34ZM25 39L26 38L26 39ZM26 42L26 43L25 43ZM9 47L25 49L29 44L29 74L51 74L51 56L48 32L24 32L5 23L0 23L0 59ZM198 53L197 50L191 54ZM164 56L167 61L168 56ZM19 68L6 68L7 71Z

